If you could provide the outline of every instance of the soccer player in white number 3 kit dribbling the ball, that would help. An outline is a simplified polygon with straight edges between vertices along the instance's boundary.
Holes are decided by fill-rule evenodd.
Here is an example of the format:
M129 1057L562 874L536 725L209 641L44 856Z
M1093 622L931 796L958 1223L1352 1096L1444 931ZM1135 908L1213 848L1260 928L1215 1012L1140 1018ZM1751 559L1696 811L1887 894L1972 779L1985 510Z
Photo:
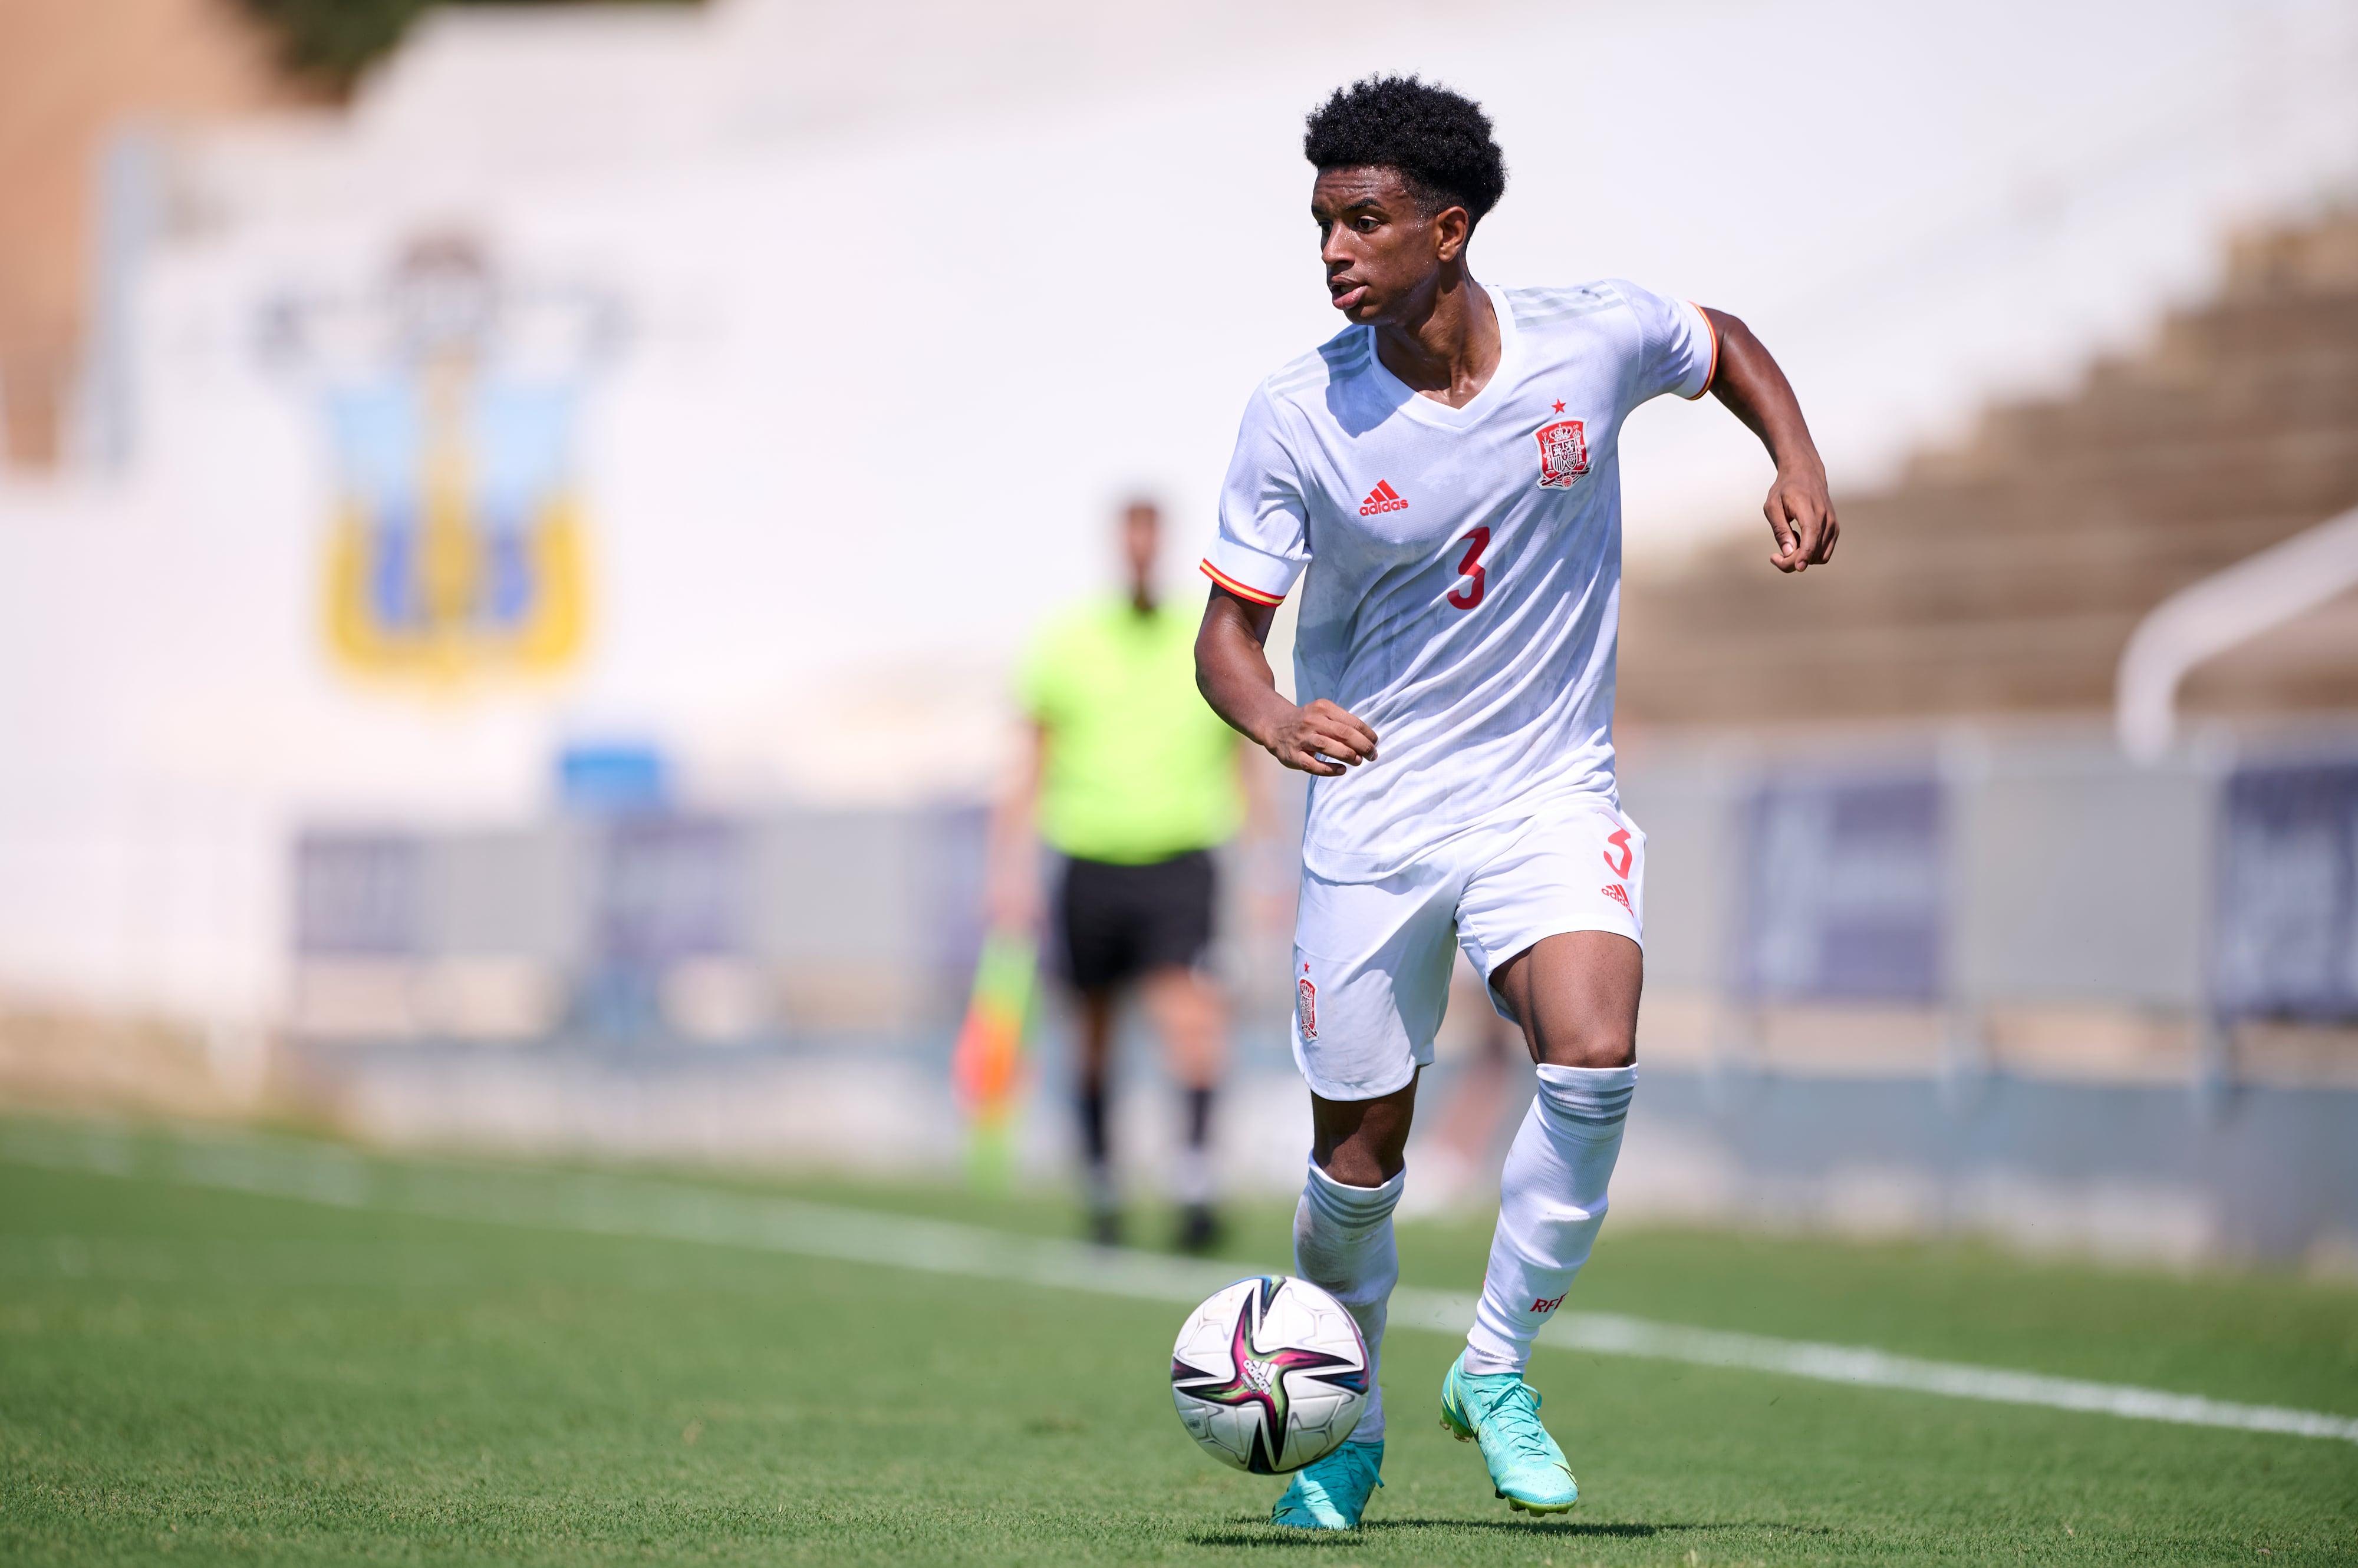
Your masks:
M1596 1240L1636 1089L1646 835L1613 783L1622 420L1712 391L1752 427L1776 460L1780 571L1832 556L1835 509L1792 387L1733 316L1622 281L1474 281L1467 245L1507 189L1476 104L1370 78L1311 113L1304 153L1351 325L1245 406L1196 637L1212 707L1313 776L1295 1269L1351 1309L1372 1363L1401 1148L1460 946L1540 1085L1441 1419L1481 1443L1500 1497L1552 1514L1578 1488L1523 1365ZM1262 644L1297 580L1290 703ZM1382 1460L1372 1386L1353 1441L1295 1474L1278 1523L1356 1526Z

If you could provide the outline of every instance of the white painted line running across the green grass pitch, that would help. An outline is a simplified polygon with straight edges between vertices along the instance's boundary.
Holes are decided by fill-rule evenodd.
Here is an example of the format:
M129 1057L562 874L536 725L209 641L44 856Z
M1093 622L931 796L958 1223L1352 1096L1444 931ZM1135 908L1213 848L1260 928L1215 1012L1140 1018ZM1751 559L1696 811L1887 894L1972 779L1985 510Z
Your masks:
M712 1243L920 1273L1089 1290L1179 1306L1193 1306L1236 1280L1236 1264L1089 1247L1045 1236L1012 1236L946 1219L910 1219L644 1177L384 1162L328 1144L189 1134L132 1137L99 1127L12 1122L0 1125L0 1158L45 1170L151 1177L335 1207ZM1401 1287L1391 1294L1391 1327L1464 1335L1471 1320L1474 1297L1469 1294L1415 1287ZM1905 1389L2000 1405L2040 1405L2141 1422L2358 1443L2358 1419L2346 1415L2238 1405L2134 1384L1919 1361L1849 1344L1728 1335L1615 1313L1561 1313L1547 1325L1540 1344L1559 1351L1811 1377L1863 1389Z

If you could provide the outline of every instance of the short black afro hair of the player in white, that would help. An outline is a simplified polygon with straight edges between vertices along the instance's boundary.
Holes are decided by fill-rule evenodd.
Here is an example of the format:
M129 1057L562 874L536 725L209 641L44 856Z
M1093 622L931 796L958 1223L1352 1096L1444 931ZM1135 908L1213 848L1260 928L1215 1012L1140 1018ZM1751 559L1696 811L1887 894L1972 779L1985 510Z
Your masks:
M1427 212L1464 207L1478 224L1507 191L1507 156L1469 97L1415 75L1370 75L1311 111L1302 156L1320 172L1398 170Z

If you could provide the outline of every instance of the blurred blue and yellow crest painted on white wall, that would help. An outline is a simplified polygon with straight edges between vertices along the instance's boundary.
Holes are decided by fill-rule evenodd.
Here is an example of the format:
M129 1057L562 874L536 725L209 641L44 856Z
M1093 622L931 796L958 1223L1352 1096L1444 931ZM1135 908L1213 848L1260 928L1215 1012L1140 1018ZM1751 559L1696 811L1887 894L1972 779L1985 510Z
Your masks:
M325 422L335 660L429 684L568 667L590 634L573 434L618 311L502 288L481 250L443 236L410 245L370 297L276 304L266 337Z

